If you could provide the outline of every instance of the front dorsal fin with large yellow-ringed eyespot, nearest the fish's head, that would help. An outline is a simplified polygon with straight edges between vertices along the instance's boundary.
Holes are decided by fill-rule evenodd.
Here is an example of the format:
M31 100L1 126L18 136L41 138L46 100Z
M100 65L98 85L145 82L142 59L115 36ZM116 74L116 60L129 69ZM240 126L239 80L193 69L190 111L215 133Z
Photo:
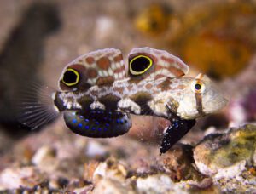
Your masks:
M133 48L128 60L131 79L182 77L189 71L189 66L176 56L154 48Z

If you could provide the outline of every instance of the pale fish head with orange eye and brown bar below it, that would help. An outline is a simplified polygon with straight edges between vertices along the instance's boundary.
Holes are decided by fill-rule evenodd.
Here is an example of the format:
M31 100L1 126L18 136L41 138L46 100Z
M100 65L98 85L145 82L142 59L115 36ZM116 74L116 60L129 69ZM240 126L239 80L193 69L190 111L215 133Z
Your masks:
M184 119L195 119L220 111L228 100L209 77L199 74L195 78L183 78L185 91L179 100L177 115Z

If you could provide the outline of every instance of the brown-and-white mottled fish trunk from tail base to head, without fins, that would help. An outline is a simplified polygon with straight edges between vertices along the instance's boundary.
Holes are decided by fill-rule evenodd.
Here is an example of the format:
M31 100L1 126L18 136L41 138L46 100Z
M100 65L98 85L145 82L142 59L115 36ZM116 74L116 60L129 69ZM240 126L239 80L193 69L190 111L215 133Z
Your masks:
M202 80L200 82L203 83ZM130 83L130 79L126 78L111 86L92 86L84 92L57 92L55 105L60 110L100 109L166 118L177 115L183 119L193 119L211 113L207 108L200 110L204 107L203 102L198 100L200 97L193 90L193 84L196 84L196 79L189 77L161 77L157 80L144 79L138 83Z

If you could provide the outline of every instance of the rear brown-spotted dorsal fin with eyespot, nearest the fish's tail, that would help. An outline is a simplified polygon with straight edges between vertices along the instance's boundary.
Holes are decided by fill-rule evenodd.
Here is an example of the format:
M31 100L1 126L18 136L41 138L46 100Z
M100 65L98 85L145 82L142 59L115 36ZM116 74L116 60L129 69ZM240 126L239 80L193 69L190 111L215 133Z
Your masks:
M61 90L84 90L92 85L109 85L126 76L119 49L100 49L84 54L69 63L61 74Z

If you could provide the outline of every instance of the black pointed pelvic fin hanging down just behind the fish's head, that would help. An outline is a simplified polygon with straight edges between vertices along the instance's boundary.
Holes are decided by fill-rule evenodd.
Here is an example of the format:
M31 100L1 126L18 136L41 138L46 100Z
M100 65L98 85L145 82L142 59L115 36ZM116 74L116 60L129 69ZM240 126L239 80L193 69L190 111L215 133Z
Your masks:
M175 145L178 140L182 139L185 134L195 125L195 120L175 120L167 128L164 138L160 146L160 155L166 153L172 145Z

